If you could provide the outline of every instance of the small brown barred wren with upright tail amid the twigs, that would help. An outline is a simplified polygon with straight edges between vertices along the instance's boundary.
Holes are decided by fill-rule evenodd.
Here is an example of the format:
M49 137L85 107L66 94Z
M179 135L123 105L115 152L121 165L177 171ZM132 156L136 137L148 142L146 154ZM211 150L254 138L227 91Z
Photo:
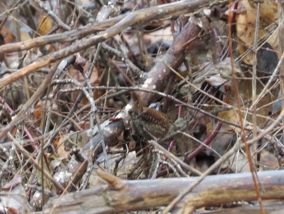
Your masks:
M164 137L170 129L168 116L153 108L143 107L139 97L134 92L132 92L131 98L133 106L129 114L132 135L146 140L153 139L151 135L156 138Z

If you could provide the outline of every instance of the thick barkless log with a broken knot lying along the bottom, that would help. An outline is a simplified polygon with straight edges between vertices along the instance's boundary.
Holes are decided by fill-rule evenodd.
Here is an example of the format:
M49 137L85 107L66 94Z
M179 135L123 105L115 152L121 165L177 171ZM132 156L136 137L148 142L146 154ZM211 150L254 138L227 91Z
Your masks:
M261 182L259 186L264 190L261 190L262 199L284 198L284 170L258 172L257 175ZM188 185L198 179L191 177L122 181L109 174L104 178L108 180L108 185L51 198L41 213L49 213L51 209L54 214L112 214L153 209L168 205ZM187 204L196 209L256 199L252 175L247 172L208 176L183 200L187 200Z

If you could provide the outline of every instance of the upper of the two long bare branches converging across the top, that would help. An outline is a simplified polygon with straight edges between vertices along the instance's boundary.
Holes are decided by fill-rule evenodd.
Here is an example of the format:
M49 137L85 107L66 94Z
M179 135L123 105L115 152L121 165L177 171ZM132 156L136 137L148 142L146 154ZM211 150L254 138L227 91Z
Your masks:
M15 42L12 44L4 44L0 46L0 53L11 53L20 50L29 50L31 48L36 48L44 46L46 44L51 44L54 42L70 42L76 39L81 39L83 37L89 36L93 33L106 30L122 19L129 20L128 17L136 17L136 22L139 24L147 23L149 21L158 21L160 19L175 18L186 13L195 11L196 9L206 7L210 3L215 1L212 0L183 0L174 3L158 5L155 7L141 9L138 11L133 11L126 15L120 15L114 18L108 18L106 20L101 20L99 22L94 22L88 24L82 28L73 29L68 32L58 33L53 35L40 36L30 40ZM145 15L147 13L147 16Z

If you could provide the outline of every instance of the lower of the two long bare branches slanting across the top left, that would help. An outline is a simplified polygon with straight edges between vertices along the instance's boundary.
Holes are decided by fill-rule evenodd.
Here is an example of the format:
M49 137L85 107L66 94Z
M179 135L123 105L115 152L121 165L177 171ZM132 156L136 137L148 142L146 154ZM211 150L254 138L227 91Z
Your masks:
M210 5L210 3L213 3L215 1L212 0L184 0L180 2L175 3L169 3L165 5L159 5L153 8L149 9L143 9L140 11L135 11L133 13L129 13L127 15L123 15L120 18L114 18L118 19L118 22L114 24L111 28L108 28L107 30L92 36L91 38L88 38L78 44L72 44L66 48L63 48L61 50L58 50L56 52L53 52L51 54L45 55L43 57L40 57L30 65L27 65L26 67L19 69L18 71L7 75L0 79L0 88L4 87L5 85L19 79L20 77L24 75L28 75L29 73L32 73L36 71L37 69L44 67L45 65L49 65L50 63L53 63L59 59L63 59L67 56L70 56L72 54L75 54L77 52L80 52L82 50L85 50L91 46L94 46L95 44L99 42L103 42L106 39L115 36L116 34L122 32L125 28L132 26L136 23L143 23L143 22L150 22L150 21L157 21L161 19L168 19L168 18L175 18L180 15L183 15L185 13L190 13L195 11L196 9L206 7ZM217 1L218 2L218 1ZM147 13L145 13L147 10ZM97 23L97 28L102 28L102 23L108 23L113 21L113 19L107 19L103 22ZM74 32L75 33L75 32ZM78 33L78 32L77 32ZM70 32L68 32L70 35ZM86 32L84 32L84 35L86 35ZM39 37L40 38L40 37ZM58 37L57 37L58 38ZM76 38L76 37L75 37ZM70 40L75 39L72 34L70 35ZM54 41L54 40L53 40ZM31 42L31 41L30 41ZM54 41L55 42L55 41ZM17 50L25 50L25 44L20 42L18 44ZM41 43L43 45L44 43ZM11 52L9 51L9 47L11 44L0 46L0 53L7 53Z

